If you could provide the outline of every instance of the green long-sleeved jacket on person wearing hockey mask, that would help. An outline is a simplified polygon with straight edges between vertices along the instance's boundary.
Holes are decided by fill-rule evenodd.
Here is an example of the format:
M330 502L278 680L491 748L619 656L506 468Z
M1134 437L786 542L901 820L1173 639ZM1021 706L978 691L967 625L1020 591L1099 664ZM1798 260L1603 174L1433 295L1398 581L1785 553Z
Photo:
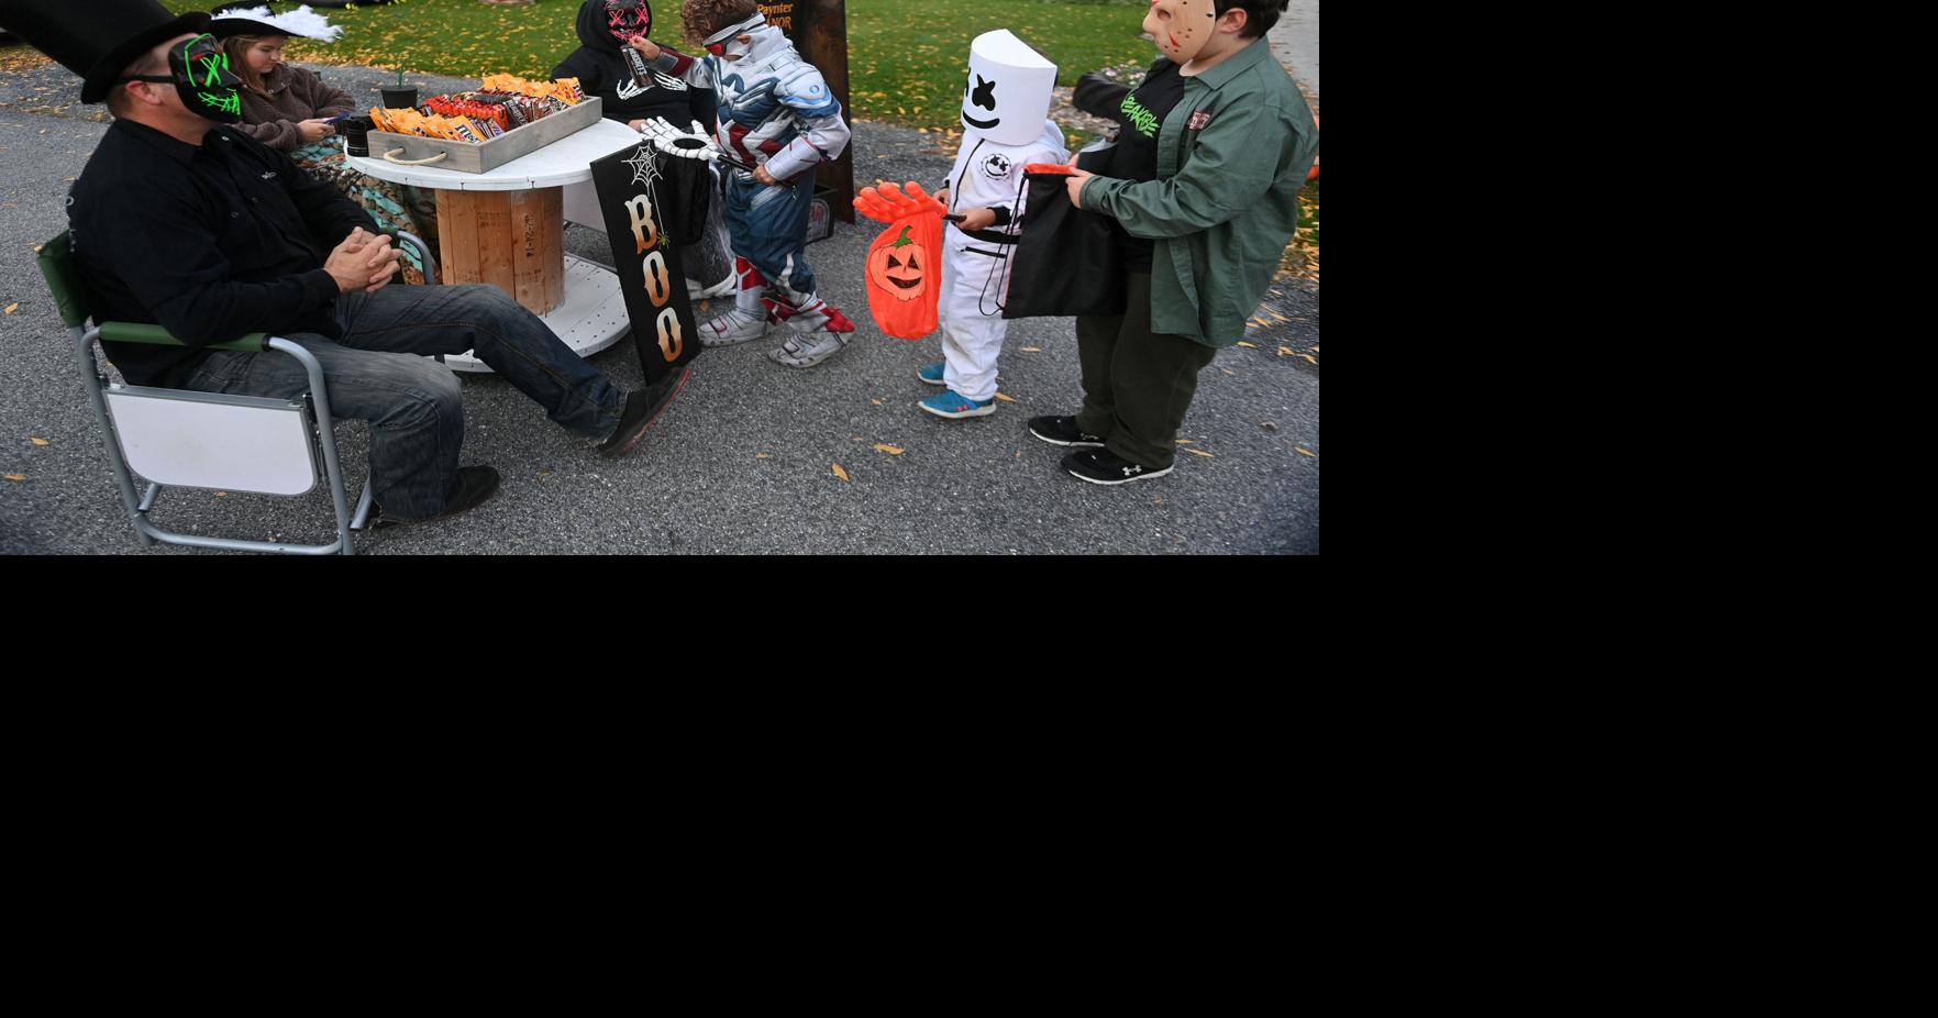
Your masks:
M1190 130L1194 116L1202 130ZM1244 337L1298 227L1298 188L1318 149L1312 109L1256 39L1184 80L1184 99L1157 132L1157 180L1083 182L1085 209L1155 240L1151 332L1207 347Z

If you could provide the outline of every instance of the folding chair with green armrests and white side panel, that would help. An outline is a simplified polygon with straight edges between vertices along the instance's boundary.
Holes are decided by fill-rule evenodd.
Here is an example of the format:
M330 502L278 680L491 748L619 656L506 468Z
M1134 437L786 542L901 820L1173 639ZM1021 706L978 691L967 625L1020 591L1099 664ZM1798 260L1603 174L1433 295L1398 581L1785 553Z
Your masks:
M415 244L424 258L426 281L436 279L430 250L409 233L395 233ZM107 434L109 463L122 504L141 547L155 541L207 549L281 551L289 555L355 555L351 531L370 516L370 485L364 483L355 516L337 467L337 440L329 415L324 368L300 345L250 334L205 349L246 353L279 351L302 363L310 388L289 399L219 396L207 392L120 386L109 382L95 361L95 339L116 343L186 345L161 326L101 322L87 328L89 297L74 268L74 246L66 233L39 248L35 262L60 308L60 320L74 337L87 399ZM136 496L134 475L149 481ZM221 489L260 494L308 494L318 483L329 487L337 514L337 539L328 545L289 545L281 541L242 541L171 533L149 522L149 510L163 489Z

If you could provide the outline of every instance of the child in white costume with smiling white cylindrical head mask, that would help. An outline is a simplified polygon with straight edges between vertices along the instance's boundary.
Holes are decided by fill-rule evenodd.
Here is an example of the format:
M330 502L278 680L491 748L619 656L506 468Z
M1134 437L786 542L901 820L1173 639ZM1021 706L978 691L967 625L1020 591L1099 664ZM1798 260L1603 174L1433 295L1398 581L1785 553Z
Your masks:
M1023 221L1023 167L1062 163L1064 132L1045 114L1056 64L1008 29L969 45L963 87L963 142L942 202L959 223L942 235L942 361L915 374L940 396L917 403L936 417L996 413L996 359L1002 355L1002 297L1008 256Z

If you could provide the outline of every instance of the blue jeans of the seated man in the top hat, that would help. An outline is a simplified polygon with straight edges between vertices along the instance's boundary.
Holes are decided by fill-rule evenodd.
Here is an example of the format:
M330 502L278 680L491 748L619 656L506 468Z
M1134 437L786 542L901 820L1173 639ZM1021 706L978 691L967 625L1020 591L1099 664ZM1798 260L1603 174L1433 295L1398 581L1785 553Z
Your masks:
M498 287L390 285L337 297L335 316L341 341L302 332L285 339L322 363L329 413L370 421L370 487L390 520L436 516L457 477L463 392L450 368L430 361L434 353L475 349L579 434L609 434L626 405L626 390ZM182 388L287 398L308 388L308 374L283 353L215 351Z

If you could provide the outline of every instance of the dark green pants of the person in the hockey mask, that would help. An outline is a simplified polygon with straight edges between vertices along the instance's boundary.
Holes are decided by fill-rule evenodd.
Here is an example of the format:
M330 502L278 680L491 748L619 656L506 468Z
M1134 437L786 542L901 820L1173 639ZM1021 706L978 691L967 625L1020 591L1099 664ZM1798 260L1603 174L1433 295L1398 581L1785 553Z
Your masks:
M1101 434L1116 456L1163 469L1178 458L1178 427L1217 347L1151 334L1151 273L1128 275L1124 291L1124 314L1078 316L1078 427Z

